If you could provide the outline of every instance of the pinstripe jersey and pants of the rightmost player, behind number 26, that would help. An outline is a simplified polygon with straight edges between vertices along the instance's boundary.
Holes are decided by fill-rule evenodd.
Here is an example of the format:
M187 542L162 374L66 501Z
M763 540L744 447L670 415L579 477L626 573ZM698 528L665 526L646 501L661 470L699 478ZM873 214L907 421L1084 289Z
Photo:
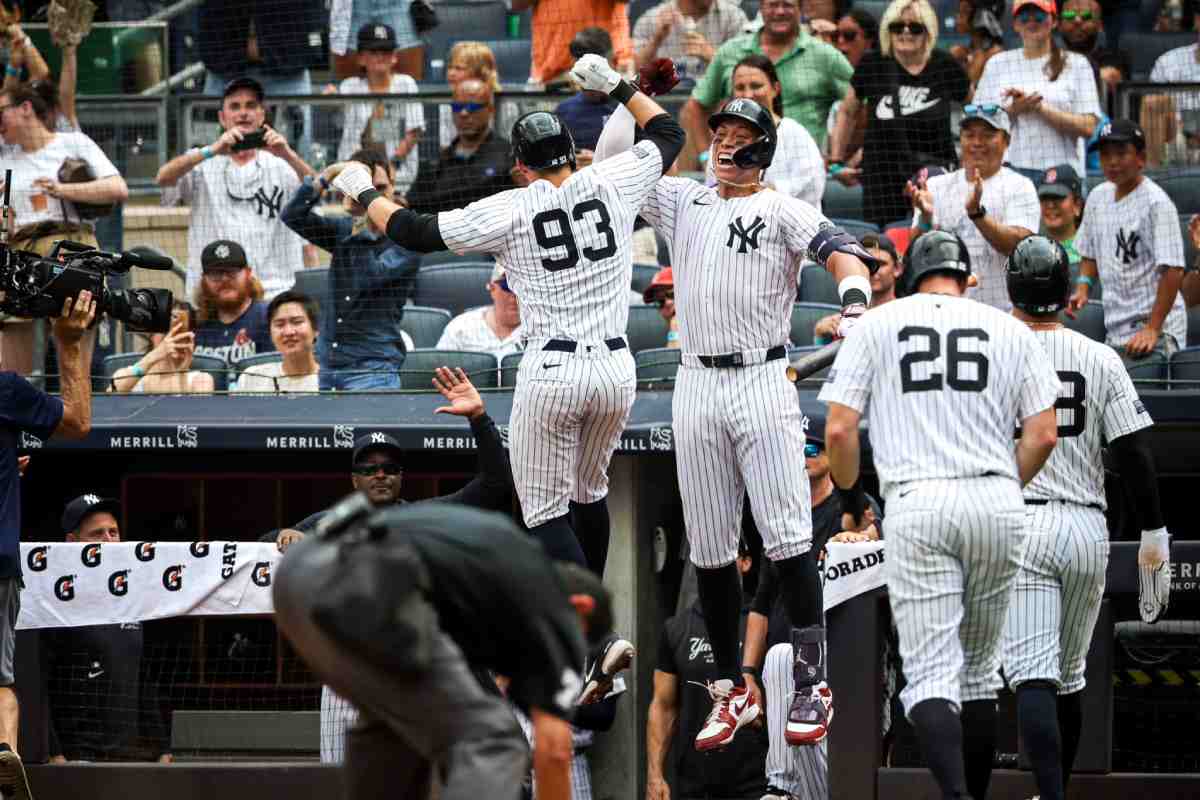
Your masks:
M1067 329L1036 330L1058 372L1058 444L1025 487L1027 537L1004 626L1013 687L1045 680L1084 688L1109 563L1104 441L1153 423L1121 357Z

